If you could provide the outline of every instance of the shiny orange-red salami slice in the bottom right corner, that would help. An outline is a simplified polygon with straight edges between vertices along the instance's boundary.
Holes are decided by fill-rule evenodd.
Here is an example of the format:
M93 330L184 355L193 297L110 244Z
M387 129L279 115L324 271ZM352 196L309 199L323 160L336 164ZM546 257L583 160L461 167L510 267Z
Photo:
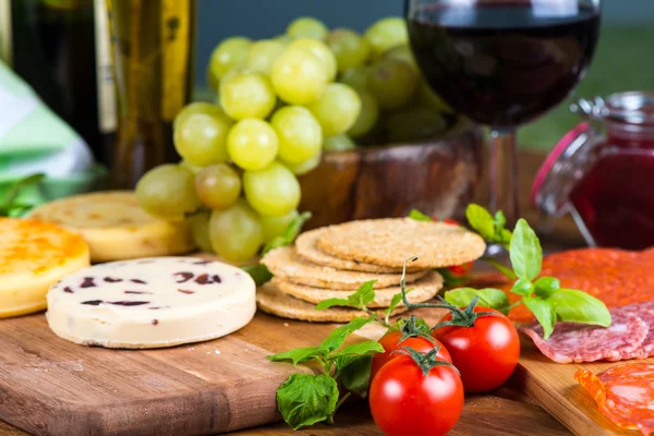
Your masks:
M618 365L596 376L579 370L574 378L614 424L645 436L654 433L654 365Z

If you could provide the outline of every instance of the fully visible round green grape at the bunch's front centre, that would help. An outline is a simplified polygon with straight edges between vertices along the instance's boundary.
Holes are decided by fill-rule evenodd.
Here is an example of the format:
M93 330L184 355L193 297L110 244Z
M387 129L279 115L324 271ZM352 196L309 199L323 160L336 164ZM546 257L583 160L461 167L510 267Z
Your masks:
M229 157L245 170L261 170L275 160L279 140L266 121L246 118L229 131L227 150Z

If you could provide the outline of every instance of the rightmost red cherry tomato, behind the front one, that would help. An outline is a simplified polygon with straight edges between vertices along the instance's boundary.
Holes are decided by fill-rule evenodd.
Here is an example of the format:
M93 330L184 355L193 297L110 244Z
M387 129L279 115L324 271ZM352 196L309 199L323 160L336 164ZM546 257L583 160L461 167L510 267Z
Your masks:
M475 313L492 312L471 327L446 326L432 331L449 351L461 373L467 392L485 392L505 383L518 364L520 339L513 324L500 312L474 307ZM452 319L451 313L438 323Z

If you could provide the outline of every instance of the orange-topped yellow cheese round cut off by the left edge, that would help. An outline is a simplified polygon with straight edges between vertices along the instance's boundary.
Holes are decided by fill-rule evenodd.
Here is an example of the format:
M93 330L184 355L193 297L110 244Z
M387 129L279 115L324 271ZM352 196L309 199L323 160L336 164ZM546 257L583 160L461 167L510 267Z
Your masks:
M88 266L80 235L31 219L0 218L0 318L46 308L48 288Z

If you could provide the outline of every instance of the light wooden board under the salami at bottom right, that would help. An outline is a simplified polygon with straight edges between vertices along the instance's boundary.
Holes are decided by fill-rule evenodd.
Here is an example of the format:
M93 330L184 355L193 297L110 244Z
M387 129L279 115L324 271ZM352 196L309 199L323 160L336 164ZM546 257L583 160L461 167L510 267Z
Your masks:
M547 359L531 340L523 338L513 380L518 389L536 400L576 435L633 436L640 435L640 432L622 429L600 413L595 400L574 379L574 373L584 368L597 374L611 366L635 362L654 364L654 358L628 362L561 364Z

